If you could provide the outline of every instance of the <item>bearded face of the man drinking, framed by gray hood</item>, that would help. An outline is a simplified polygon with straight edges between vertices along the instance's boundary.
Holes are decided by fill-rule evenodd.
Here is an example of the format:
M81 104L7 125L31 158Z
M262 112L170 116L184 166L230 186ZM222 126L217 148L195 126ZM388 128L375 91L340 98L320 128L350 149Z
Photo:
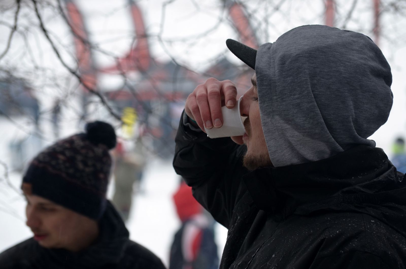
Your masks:
M253 86L244 93L241 100L241 115L247 116L244 121L245 132L242 141L248 150L244 156L244 166L249 170L272 166L268 148L263 135L261 117L259 116L257 77L251 78Z

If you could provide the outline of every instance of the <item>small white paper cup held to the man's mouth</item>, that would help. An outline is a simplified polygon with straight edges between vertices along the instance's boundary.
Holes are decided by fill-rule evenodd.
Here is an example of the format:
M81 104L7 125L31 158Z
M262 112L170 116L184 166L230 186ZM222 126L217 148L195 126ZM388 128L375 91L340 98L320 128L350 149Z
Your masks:
M240 103L242 96L238 100L238 104L234 108L222 106L223 125L220 128L213 127L211 129L204 128L207 136L210 138L218 137L234 137L245 134L244 119L240 113Z

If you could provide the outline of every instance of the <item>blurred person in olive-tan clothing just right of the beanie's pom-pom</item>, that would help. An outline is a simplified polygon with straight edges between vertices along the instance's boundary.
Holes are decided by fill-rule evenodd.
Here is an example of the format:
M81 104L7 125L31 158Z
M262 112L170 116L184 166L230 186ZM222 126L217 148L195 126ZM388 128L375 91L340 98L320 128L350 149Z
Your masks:
M123 220L127 221L134 193L143 193L141 180L146 156L141 137L136 139L135 145L125 142L127 141L118 140L117 147L113 151L115 181L112 203L119 210Z

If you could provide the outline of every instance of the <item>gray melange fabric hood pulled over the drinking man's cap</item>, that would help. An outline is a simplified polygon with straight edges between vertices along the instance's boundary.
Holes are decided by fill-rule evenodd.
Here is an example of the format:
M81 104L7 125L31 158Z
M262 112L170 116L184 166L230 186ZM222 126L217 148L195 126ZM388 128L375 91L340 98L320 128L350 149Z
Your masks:
M367 139L389 116L391 68L369 37L294 28L256 57L259 110L275 167L318 161Z

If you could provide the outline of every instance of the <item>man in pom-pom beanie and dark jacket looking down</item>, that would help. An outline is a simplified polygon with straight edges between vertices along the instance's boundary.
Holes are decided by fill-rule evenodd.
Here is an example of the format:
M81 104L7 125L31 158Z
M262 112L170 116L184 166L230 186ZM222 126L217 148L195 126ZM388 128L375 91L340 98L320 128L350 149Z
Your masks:
M2 269L165 268L130 241L106 199L108 150L116 139L110 124L95 121L86 125L86 133L56 142L31 161L22 190L34 237L0 254Z

